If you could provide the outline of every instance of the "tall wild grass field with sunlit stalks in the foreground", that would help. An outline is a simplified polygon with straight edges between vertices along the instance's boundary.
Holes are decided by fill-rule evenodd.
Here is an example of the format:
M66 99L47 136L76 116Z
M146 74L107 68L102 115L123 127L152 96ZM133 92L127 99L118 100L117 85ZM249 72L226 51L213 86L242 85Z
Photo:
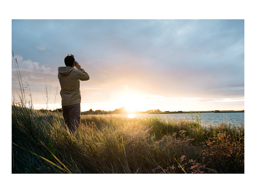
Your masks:
M84 115L74 135L60 112L12 106L12 173L244 173L244 128Z

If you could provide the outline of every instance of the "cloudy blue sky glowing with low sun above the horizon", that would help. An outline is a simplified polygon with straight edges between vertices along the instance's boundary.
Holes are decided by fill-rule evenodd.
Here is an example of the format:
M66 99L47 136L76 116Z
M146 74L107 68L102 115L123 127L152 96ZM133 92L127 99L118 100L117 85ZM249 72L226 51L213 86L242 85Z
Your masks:
M12 50L36 109L46 86L48 107L61 107L67 54L90 76L82 111L244 109L244 20L12 20Z

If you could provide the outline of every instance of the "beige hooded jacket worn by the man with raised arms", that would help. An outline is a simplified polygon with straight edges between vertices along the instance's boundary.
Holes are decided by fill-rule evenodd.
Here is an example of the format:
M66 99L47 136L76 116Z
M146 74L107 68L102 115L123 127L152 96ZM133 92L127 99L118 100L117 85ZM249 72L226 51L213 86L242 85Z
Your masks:
M81 103L80 81L88 81L90 77L80 65L78 66L78 69L79 70L76 70L70 66L58 68L62 106Z

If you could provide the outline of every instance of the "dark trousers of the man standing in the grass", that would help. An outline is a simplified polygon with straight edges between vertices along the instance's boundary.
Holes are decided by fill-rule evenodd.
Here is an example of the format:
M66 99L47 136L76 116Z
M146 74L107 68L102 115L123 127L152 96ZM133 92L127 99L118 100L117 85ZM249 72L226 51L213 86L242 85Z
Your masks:
M80 125L80 103L62 106L63 117L70 133L74 133Z

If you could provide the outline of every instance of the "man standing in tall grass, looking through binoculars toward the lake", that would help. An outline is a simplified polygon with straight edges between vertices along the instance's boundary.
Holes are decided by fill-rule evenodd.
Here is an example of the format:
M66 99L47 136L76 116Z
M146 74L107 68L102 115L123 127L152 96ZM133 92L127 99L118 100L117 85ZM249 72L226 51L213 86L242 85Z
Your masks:
M80 125L80 81L88 81L90 77L72 54L65 57L64 63L65 67L58 68L61 105L65 123L69 132L73 134Z

